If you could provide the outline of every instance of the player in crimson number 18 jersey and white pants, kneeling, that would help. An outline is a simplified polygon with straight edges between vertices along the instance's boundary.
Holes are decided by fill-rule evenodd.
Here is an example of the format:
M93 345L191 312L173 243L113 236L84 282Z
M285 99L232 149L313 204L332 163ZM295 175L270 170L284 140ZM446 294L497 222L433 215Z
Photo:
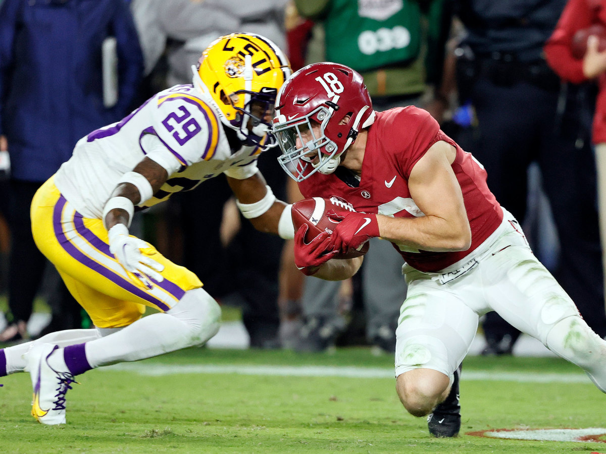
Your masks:
M606 341L534 257L519 223L486 185L481 163L416 107L375 112L362 77L344 65L297 71L276 99L279 162L305 197L339 196L358 212L307 245L296 265L327 279L353 275L363 257L334 251L382 237L404 259L408 284L396 330L396 390L435 436L461 426L459 366L481 315L497 311L582 367L606 392Z

